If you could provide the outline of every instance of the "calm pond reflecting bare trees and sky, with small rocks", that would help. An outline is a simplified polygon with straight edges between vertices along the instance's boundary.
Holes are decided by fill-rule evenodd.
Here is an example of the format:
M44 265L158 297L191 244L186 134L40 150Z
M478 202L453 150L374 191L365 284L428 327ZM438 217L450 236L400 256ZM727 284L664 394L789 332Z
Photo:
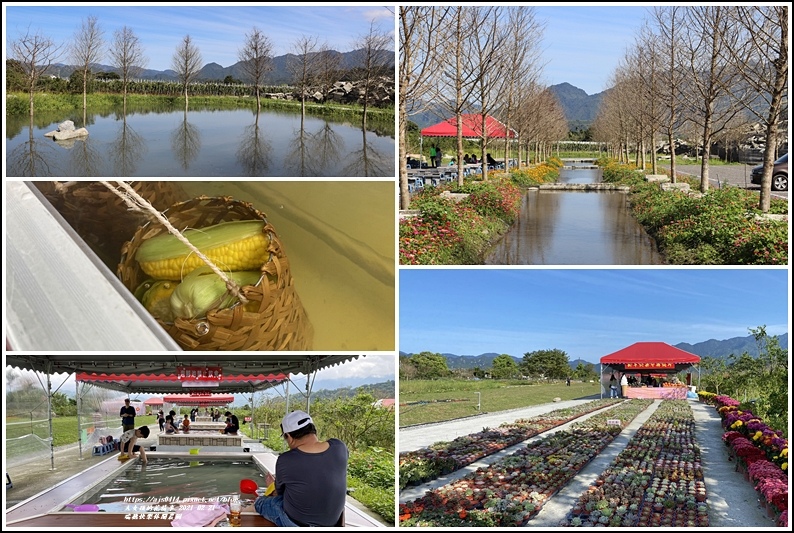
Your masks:
M129 108L128 108L129 109ZM87 137L44 135L81 112L6 117L7 177L394 176L394 124L249 109L90 113Z

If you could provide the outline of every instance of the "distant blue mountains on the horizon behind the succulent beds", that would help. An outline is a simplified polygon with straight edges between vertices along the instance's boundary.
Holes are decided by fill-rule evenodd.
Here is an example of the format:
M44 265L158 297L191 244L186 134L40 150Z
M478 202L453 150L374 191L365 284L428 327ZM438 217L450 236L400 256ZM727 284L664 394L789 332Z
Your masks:
M780 346L786 348L788 346L788 333L784 333L778 337L778 341L780 342ZM727 359L728 356L731 354L733 355L741 355L744 352L747 352L752 357L758 357L758 346L755 343L755 338L752 335L748 335L747 337L734 337L732 339L726 340L715 340L710 339L704 342L699 342L697 344L689 344L686 342L681 342L679 344L673 345L676 348L680 348L681 350L687 351L689 353L693 353L700 357L717 357L720 359ZM400 352L400 356L409 356L412 354L408 354L405 352ZM458 369L470 369L479 367L481 369L491 368L493 366L493 360L498 357L500 354L498 353L483 353L480 355L455 355L451 353L443 353L441 354L447 359L447 367L450 370L458 370ZM604 354L608 355L608 354ZM516 364L521 363L523 360L522 357L515 357L511 356ZM599 362L595 361L585 361L584 359L574 359L573 361L569 361L571 368L576 368L579 363L583 365L593 365L596 369L599 367Z

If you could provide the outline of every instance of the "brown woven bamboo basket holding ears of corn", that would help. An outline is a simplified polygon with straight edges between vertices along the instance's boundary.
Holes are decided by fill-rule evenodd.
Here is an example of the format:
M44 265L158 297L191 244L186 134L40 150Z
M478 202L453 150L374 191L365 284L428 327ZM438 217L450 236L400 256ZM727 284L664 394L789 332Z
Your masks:
M247 202L231 197L200 196L172 205L163 215L178 230L204 228L221 222L263 220L263 232L270 236L269 258L261 266L262 277L256 285L241 287L252 302L245 307L237 302L226 309L213 309L205 317L176 318L173 323L157 322L185 350L311 350L314 330L295 290L289 260L275 228L261 211ZM135 254L140 245L167 233L158 221L137 229L121 249L118 277L134 291L148 279ZM251 307L256 310L252 311ZM248 310L246 310L248 309Z

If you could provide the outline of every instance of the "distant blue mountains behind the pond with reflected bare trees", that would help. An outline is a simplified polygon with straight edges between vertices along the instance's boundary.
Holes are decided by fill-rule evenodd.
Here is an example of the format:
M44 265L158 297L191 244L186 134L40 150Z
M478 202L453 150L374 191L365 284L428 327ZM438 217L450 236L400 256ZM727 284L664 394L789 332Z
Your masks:
M335 55L339 59L339 69L341 71L349 71L351 69L355 69L362 64L362 54L364 53L363 50L352 50L350 52L337 52L331 51L332 55ZM288 64L289 61L293 58L297 57L295 54L285 54L282 56L274 57L273 58L273 69L268 72L265 76L265 84L266 85L284 85L291 83L292 75L289 72ZM390 52L388 56L391 61L388 65L388 68L394 68L394 53ZM49 74L59 76L61 78L68 78L72 72L74 72L78 67L74 65L65 65L62 63L58 63L53 65L48 70ZM91 66L91 70L93 72L116 72L118 73L118 69L110 65L102 65L102 64L94 64ZM198 81L223 81L226 76L231 76L234 79L244 80L246 78L245 72L241 66L241 62L237 62L230 67L224 67L219 65L218 63L207 63L204 65L201 70L199 71L196 79ZM145 69L143 70L140 75L138 76L140 79L144 80L157 80L157 81L177 81L178 77L175 71L166 69L166 70L152 70L152 69Z

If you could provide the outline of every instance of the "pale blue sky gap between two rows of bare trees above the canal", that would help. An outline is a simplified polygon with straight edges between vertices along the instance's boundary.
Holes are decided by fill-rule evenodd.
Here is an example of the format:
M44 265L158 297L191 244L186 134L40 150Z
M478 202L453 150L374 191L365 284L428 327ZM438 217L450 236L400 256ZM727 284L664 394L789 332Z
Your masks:
M648 4L536 6L535 20L545 23L545 84L568 82L587 94L607 89L650 9Z

